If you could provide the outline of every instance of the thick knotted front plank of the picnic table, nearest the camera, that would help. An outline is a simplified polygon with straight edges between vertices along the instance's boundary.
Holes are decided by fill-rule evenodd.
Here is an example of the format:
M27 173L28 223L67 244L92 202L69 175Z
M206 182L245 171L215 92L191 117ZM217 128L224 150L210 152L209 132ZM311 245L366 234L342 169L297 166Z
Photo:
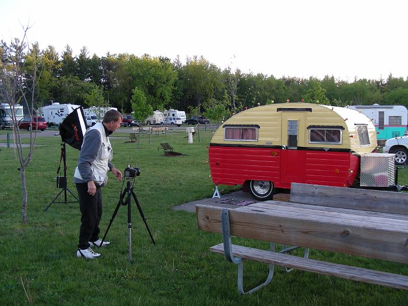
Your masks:
M222 233L221 210L197 205L198 228ZM237 237L408 263L408 228L403 225L262 209L232 209L230 224Z

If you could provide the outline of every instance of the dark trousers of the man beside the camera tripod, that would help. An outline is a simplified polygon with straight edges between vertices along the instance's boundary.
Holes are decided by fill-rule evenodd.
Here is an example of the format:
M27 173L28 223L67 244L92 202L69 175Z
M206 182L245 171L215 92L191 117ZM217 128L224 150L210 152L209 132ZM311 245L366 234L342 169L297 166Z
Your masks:
M99 238L99 221L102 216L102 191L96 187L94 195L88 193L88 183L76 183L80 199L81 227L78 248L87 249L89 241Z

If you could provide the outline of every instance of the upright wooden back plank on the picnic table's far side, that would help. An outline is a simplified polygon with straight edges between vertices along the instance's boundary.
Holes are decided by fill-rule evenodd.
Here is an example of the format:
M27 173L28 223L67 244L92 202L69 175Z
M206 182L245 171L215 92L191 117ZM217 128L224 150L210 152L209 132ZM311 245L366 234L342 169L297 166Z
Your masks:
M290 201L408 215L408 194L403 192L292 183Z

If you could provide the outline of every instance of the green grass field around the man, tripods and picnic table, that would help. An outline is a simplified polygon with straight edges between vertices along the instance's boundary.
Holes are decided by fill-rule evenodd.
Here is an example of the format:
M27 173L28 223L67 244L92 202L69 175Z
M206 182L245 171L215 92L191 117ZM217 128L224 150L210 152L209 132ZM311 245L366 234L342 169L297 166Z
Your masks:
M115 133L112 136L126 136ZM156 239L150 241L133 207L133 259L127 260L127 210L121 207L108 234L112 244L101 249L102 257L85 261L74 257L80 225L78 203L53 204L43 212L56 189L60 161L60 139L39 137L28 167L28 221L21 225L21 190L12 149L0 151L0 304L148 304L148 305L403 305L402 290L346 281L314 273L284 273L275 268L272 283L248 296L236 288L237 270L209 247L221 235L197 230L194 213L173 211L182 203L210 197L213 183L206 163L212 133L202 132L198 143L188 144L185 134L141 138L140 148L126 139L112 139L115 167L138 166L135 192ZM24 140L23 140L24 141ZM27 140L25 140L27 141ZM4 142L4 141L3 141ZM166 158L158 150L170 143L183 157ZM68 187L79 151L67 146ZM104 188L101 235L117 205L121 183L109 177ZM408 183L406 170L399 184ZM225 192L233 187L223 187ZM60 197L62 199L62 197ZM70 198L72 199L72 198ZM266 242L234 239L243 245L268 248ZM311 250L310 258L408 275L407 265ZM267 266L245 263L245 286L263 281Z

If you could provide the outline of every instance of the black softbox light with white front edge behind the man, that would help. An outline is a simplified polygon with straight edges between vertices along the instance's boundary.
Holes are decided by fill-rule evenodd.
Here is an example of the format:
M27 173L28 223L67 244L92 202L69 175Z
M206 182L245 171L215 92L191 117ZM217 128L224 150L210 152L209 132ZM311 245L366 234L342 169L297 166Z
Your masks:
M87 128L84 110L82 107L76 108L60 124L61 139L71 147L81 150Z

